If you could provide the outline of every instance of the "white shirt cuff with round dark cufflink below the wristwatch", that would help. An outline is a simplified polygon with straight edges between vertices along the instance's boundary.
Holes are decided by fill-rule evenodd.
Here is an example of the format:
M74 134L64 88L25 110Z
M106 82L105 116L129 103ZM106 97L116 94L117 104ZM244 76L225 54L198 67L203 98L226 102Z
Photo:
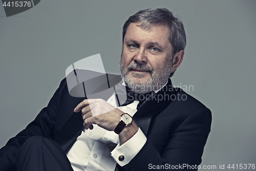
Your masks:
M111 151L111 156L120 166L124 166L125 164L128 164L139 153L145 143L146 136L139 128L139 130L131 139L123 143L121 146L120 143L118 143L116 148ZM120 161L118 159L119 156L124 156L124 159Z

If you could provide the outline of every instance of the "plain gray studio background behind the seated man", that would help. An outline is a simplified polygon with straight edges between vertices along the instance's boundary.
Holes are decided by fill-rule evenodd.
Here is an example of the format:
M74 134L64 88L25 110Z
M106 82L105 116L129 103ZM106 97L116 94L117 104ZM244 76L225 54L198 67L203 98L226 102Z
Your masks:
M193 85L188 93L212 111L201 165L256 164L256 1L42 0L11 17L0 6L0 146L48 104L72 63L100 53L118 73L123 23L159 7L179 15L187 35L173 84Z

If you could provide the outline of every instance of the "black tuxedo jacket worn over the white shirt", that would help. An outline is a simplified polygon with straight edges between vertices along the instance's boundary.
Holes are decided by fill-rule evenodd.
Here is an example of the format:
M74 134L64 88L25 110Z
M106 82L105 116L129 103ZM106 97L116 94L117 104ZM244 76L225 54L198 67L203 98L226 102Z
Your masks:
M44 136L57 141L63 138L60 130L65 128L64 125L74 113L73 109L83 99L70 96L66 79L62 80L48 106L40 111L26 129L0 149L0 170L15 170L15 156L28 138ZM210 132L211 112L180 88L173 88L170 80L133 118L147 141L130 163L123 167L118 165L119 170L147 170L154 165L171 168L172 165L192 166L201 163ZM69 139L65 140L64 137L65 142L60 144L61 147L68 150L80 133L81 130L76 130Z

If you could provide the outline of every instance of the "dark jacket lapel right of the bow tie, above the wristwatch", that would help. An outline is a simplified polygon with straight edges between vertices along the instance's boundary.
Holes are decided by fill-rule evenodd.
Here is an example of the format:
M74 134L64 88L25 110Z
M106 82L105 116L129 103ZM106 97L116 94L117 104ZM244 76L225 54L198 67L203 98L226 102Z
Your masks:
M169 79L168 83L151 100L141 106L133 116L145 136L147 135L152 118L159 115L172 102L172 94L177 94L177 92Z

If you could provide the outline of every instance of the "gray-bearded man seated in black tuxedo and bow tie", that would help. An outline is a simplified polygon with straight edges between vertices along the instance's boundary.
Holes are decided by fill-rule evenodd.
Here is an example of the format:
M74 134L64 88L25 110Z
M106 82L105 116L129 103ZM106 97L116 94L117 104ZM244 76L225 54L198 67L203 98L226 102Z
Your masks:
M0 170L197 170L211 113L169 79L185 44L182 22L167 9L131 16L120 61L130 99L119 106L116 93L74 98L63 80L47 108L0 150Z

